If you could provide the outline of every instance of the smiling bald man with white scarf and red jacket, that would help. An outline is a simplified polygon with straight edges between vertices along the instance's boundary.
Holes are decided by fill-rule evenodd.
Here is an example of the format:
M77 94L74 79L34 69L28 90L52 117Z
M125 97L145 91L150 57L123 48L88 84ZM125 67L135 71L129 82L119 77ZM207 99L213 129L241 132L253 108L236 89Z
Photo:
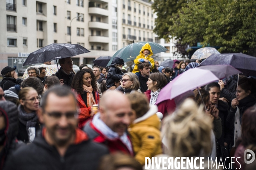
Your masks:
M83 130L94 142L106 144L110 152L121 151L133 156L126 133L133 115L128 98L119 91L107 91L99 106L99 112Z

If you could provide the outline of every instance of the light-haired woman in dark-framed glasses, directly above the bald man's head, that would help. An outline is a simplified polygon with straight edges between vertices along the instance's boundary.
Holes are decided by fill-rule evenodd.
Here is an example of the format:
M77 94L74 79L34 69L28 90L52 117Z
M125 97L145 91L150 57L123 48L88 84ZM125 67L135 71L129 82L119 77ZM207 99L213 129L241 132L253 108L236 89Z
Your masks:
M120 79L121 85L116 90L123 92L124 94L132 93L133 91L140 91L140 82L136 74L125 73L124 77Z

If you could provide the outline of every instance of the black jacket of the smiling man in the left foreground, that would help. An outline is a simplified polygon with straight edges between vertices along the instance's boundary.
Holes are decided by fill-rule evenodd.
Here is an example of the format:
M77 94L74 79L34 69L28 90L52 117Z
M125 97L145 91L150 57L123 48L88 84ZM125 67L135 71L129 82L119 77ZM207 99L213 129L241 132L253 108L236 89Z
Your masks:
M91 140L68 147L64 157L42 135L20 147L6 162L4 170L96 170L108 148Z

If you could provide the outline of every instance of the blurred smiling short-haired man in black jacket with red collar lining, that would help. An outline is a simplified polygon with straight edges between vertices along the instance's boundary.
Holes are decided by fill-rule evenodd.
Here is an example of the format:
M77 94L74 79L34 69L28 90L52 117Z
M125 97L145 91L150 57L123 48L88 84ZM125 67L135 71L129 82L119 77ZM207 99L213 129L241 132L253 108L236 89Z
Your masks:
M41 135L15 151L5 170L95 170L108 154L105 146L78 129L76 97L67 87L47 91L38 118L44 123Z

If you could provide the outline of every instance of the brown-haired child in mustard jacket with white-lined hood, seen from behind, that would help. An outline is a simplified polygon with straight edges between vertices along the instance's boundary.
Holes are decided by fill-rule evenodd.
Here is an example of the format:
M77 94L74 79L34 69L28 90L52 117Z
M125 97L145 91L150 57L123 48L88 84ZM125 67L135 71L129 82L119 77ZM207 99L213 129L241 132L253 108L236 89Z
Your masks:
M157 117L157 106L149 106L144 94L128 94L131 108L134 110L131 116L131 125L128 132L134 148L135 159L145 165L145 157L153 157L162 153L160 138L160 119Z

